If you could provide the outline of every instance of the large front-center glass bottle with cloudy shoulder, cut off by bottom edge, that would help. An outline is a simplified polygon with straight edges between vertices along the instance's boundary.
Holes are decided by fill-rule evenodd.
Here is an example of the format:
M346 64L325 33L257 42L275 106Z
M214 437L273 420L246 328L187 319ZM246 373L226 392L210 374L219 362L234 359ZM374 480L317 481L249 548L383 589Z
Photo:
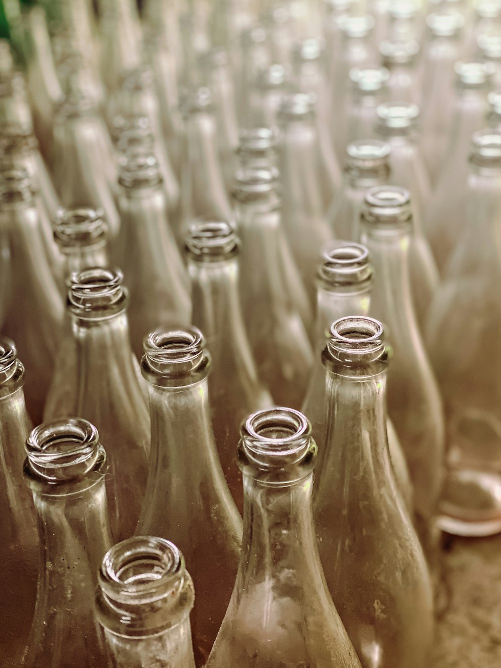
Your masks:
M360 666L317 550L311 513L316 455L311 426L299 411L259 411L242 426L242 556L207 668Z

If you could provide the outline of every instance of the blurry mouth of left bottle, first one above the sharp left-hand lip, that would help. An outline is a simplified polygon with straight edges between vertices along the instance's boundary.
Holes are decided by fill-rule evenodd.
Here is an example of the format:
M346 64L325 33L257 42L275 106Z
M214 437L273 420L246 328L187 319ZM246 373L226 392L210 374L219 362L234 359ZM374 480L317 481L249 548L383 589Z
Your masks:
M61 248L94 246L106 240L104 211L93 208L60 210L54 221L54 238Z

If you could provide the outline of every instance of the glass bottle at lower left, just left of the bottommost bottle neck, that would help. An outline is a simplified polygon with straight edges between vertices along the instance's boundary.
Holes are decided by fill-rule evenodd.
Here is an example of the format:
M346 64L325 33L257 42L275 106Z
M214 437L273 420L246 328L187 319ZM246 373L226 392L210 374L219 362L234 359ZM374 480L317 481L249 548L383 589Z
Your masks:
M39 517L37 603L23 668L107 668L94 619L100 563L111 546L106 452L80 418L35 428L26 442L25 480Z

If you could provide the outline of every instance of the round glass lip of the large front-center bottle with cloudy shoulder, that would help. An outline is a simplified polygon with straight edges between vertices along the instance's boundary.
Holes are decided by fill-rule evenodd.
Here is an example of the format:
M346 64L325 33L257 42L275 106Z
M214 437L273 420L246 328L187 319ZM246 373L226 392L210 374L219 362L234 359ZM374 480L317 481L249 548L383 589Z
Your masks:
M311 474L317 446L299 411L275 407L250 415L240 429L238 466L263 484L284 485Z

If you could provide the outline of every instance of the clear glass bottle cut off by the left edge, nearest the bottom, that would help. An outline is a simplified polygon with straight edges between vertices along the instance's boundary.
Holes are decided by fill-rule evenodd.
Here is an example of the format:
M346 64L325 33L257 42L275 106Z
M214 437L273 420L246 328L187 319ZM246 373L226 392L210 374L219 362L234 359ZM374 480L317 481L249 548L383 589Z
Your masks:
M24 367L13 341L0 338L0 646L5 666L20 665L35 608L38 540L35 509L23 483L24 444L31 430L23 394ZM9 611L7 615L7 611Z

